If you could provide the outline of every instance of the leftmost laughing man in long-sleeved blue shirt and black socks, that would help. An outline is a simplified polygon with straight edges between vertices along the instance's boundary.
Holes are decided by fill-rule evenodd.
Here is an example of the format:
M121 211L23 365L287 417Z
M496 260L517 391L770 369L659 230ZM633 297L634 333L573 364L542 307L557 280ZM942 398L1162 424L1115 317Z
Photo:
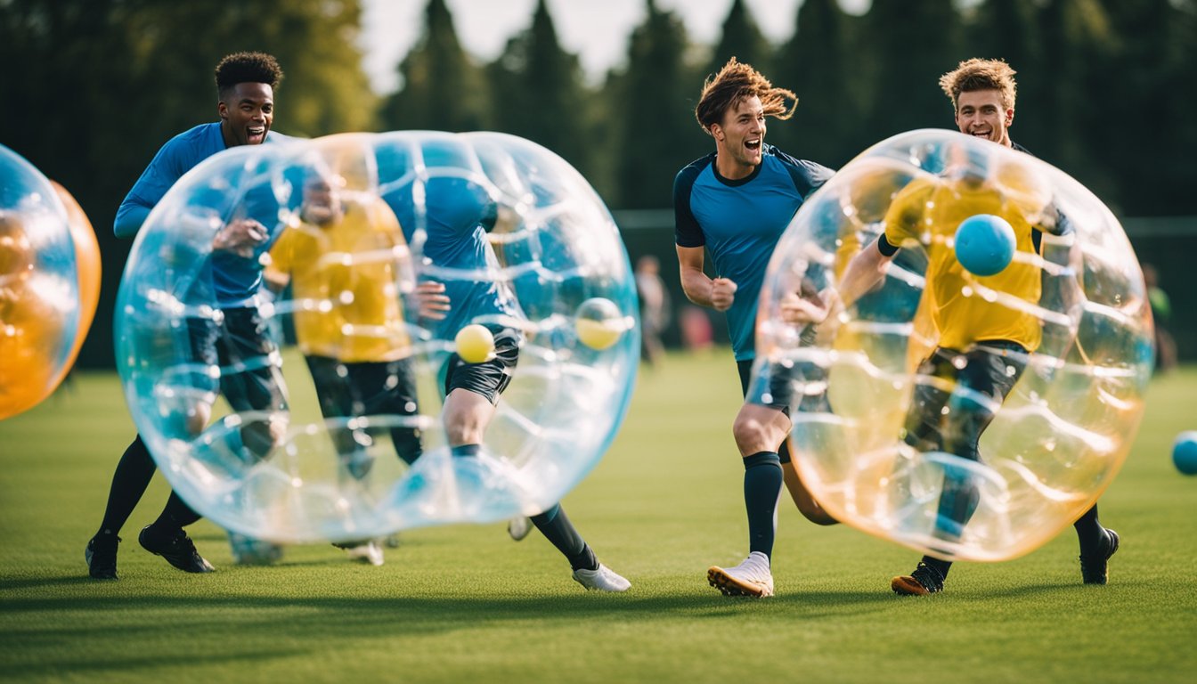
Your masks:
M212 155L239 145L285 140L279 133L271 134L274 89L281 78L282 69L267 54L236 53L220 60L215 68L219 98L217 111L220 121L186 131L171 138L158 151L116 212L116 236L134 237L166 190L183 174ZM194 351L205 363L215 364L229 355L259 356L274 350L269 338L255 332L265 329L260 325L262 321L255 304L261 271L256 260L245 258L267 236L260 223L243 219L227 224L213 240L213 255L224 255L218 261L218 267L225 270L226 278L220 279L217 298L225 309L225 322L223 331L217 329L211 321L194 322ZM250 374L250 377L221 377L221 389L230 404L247 408L285 406L282 379L278 369L267 365L265 369L238 375ZM206 416L200 418L206 423ZM202 429L202 423L196 425L196 431L199 429ZM259 435L255 440L247 435L245 443L253 446L259 442L257 448L268 448L268 443L261 442L268 442L271 437ZM85 556L92 577L116 579L117 534L150 485L154 467L148 449L138 435L116 465L104 519L99 531L87 541ZM141 531L138 540L147 551L162 556L181 570L209 573L213 570L212 564L199 555L195 544L183 531L184 526L199 517L171 492L162 514Z

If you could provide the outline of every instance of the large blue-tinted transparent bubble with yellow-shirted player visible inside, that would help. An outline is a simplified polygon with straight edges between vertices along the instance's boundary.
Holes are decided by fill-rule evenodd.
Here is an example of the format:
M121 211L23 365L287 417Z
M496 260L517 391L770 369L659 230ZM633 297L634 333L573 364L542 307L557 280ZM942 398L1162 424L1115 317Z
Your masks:
M615 309L602 349L579 339L590 299ZM274 541L545 510L609 446L639 350L609 212L558 156L497 133L212 157L141 229L117 310L126 397L172 486ZM442 414L470 325L518 356L478 454Z

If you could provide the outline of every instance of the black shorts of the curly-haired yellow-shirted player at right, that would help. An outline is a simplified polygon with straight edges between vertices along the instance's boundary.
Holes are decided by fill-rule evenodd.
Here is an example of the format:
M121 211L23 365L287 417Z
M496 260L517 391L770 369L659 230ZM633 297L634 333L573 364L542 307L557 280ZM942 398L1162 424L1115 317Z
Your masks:
M1009 340L977 343L967 351L937 347L918 367L919 376L950 382L915 386L906 413L905 441L920 452L946 452L980 460L977 444L1026 369L1027 350ZM947 408L947 410L944 410Z

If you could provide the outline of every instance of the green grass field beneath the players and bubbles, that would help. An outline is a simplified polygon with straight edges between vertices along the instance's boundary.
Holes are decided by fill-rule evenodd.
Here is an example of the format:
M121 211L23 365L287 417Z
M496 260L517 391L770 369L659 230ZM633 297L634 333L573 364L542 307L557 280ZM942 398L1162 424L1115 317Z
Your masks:
M193 576L142 551L156 478L122 534L121 580L83 549L133 435L115 375L0 423L0 679L14 682L1192 682L1197 477L1169 448L1197 429L1197 368L1155 380L1101 520L1123 537L1111 583L1080 582L1076 538L997 564L958 564L947 591L899 598L917 553L783 500L778 595L728 599L710 564L746 552L739 405L727 351L642 374L610 453L565 506L633 586L583 592L534 533L502 525L402 534L382 568L326 545L282 564Z

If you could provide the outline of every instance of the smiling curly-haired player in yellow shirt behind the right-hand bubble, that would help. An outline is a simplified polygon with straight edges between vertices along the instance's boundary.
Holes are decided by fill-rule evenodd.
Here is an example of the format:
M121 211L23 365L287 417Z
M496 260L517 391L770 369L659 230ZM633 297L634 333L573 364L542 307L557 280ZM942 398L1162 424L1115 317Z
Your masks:
M952 99L956 126L961 133L984 138L998 145L1027 152L1011 143L1009 127L1014 121L1015 83L1014 69L1004 61L972 59L943 74L940 85ZM952 162L949 162L950 164ZM958 159L959 163L959 159ZM973 161L973 168L977 161ZM953 170L946 169L946 176ZM942 181L942 178L941 178ZM885 234L867 246L849 264L839 284L839 298L849 305L868 292L883 276L885 266L894 259L904 241L917 238L915 222L926 222L943 235L952 235L956 225L968 216L992 213L978 211L985 201L985 178L970 177L967 172L946 182L915 181L894 198L886 218ZM968 198L948 199L936 202L934 193ZM968 206L968 202L978 206ZM931 216L924 216L923 207L932 206ZM1051 213L1051 212L1045 212ZM1041 234L1067 232L1067 220L1047 220L1053 225L1032 225L1019 212L1003 214L1015 229L1017 249L1040 252ZM955 255L942 242L928 247L929 266L926 292L931 292L937 304L931 316L940 331L938 346L923 361L917 374L943 379L950 386L966 387L1001 405L1014 388L1026 368L1026 358L1038 346L1041 337L1039 320L1029 313L982 297L959 297L964 285L959 270L953 271ZM1038 267L1015 262L989 280L989 286L1014 295L1027 302L1038 302L1041 292L1041 276ZM906 443L922 450L938 450L958 456L979 460L978 441L992 422L994 412L978 401L966 401L965 410L943 413L950 399L929 383L915 391L906 417ZM959 535L978 503L976 485L946 479L940 497L938 516L952 521L954 529L940 533L950 538ZM1107 577L1107 561L1118 550L1118 534L1104 528L1098 521L1098 507L1093 506L1074 525L1081 546L1081 576L1084 583L1102 585ZM891 587L905 595L924 595L943 589L952 562L934 556L924 556L910 575L894 577Z

